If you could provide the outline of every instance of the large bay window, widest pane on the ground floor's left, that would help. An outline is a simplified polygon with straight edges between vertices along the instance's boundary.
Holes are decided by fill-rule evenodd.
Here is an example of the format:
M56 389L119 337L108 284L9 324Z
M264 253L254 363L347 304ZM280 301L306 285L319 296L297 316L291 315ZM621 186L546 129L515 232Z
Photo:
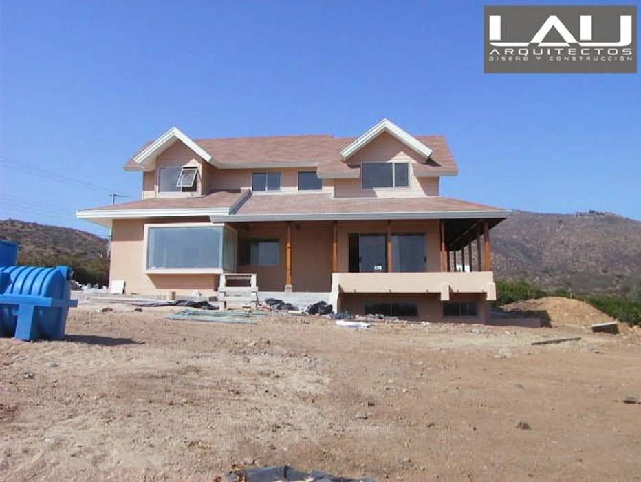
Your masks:
M147 269L220 268L222 248L220 226L149 227Z

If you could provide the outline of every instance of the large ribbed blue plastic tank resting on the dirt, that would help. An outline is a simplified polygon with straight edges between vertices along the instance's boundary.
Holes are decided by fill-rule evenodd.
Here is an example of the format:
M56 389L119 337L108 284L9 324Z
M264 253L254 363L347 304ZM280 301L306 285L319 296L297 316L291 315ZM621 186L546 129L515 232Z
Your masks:
M64 339L70 299L69 266L0 266L0 331L24 340Z

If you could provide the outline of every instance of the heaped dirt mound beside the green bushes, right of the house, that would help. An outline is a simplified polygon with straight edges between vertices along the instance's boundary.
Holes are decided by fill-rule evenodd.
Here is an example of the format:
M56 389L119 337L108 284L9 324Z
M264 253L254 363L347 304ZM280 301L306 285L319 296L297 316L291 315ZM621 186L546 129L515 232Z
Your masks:
M613 322L614 319L590 304L562 297L545 297L522 300L501 306L510 313L539 317L553 326L557 324L591 326L595 323Z

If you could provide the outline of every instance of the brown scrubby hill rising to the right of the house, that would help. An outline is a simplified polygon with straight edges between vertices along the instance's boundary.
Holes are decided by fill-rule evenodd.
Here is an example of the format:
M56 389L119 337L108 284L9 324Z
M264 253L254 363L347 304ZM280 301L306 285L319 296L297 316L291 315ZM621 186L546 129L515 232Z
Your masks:
M611 213L515 211L490 233L497 277L549 291L623 295L641 286L641 222Z

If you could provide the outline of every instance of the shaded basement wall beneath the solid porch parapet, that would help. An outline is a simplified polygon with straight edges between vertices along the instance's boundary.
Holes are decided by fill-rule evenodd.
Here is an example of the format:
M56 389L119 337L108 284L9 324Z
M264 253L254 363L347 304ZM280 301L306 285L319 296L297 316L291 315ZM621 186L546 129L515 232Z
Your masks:
M444 317L442 302L436 293L343 293L340 297L340 309L352 315L365 315L365 303L407 302L418 307L416 319L428 322L450 323L486 323L490 319L490 304L482 293L453 294L453 302L477 302L478 315L475 317Z

